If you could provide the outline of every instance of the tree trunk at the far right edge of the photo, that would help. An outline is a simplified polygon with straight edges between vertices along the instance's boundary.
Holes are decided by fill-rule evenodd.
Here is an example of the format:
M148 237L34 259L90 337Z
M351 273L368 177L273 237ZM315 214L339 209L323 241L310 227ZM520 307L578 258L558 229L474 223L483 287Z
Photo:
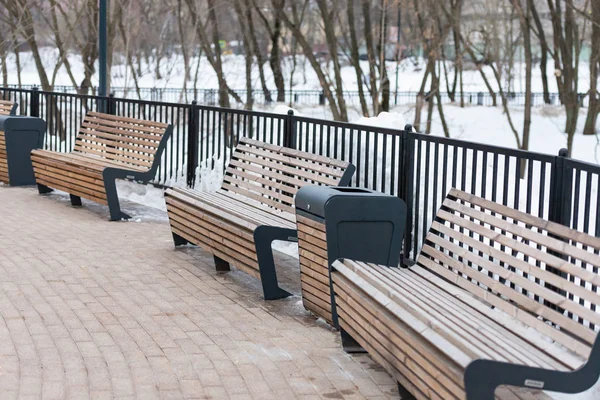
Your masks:
M590 103L583 128L584 135L596 133L598 121L598 72L600 68L600 2L592 1L592 54L590 56Z

